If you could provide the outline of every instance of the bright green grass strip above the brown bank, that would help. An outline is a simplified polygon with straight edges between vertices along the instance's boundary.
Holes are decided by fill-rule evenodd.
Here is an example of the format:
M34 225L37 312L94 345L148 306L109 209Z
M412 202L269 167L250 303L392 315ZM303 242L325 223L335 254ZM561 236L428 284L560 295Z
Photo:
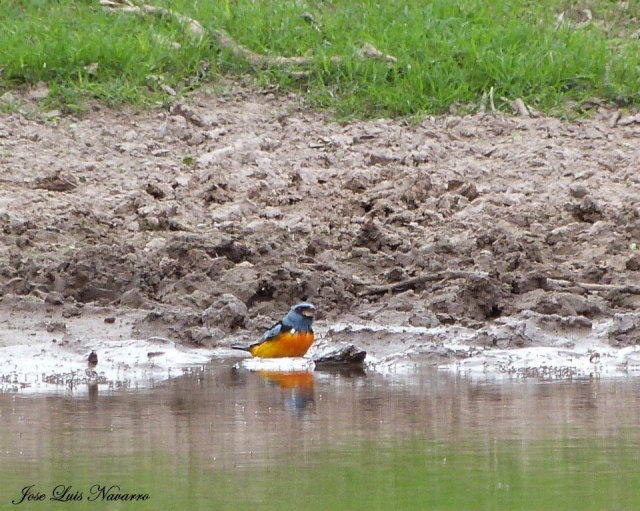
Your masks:
M2 3L0 94L44 81L45 106L63 111L82 111L91 99L162 105L172 101L163 85L184 94L220 76L303 93L340 117L473 111L492 89L500 109L508 109L501 98L555 114L584 101L640 104L632 21L640 2L149 0L199 20L203 39L175 19L108 13L97 0ZM593 19L578 26L584 8ZM216 44L218 28L254 52L309 55L311 63L256 69ZM364 43L397 61L362 59Z

